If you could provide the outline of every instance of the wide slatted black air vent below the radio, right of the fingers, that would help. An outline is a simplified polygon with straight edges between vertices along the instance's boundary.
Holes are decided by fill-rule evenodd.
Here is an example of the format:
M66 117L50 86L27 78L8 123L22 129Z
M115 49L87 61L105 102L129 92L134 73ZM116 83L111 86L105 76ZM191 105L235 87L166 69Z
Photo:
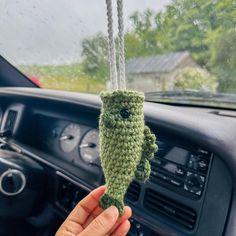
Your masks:
M151 189L145 193L144 207L151 213L170 220L188 230L192 230L195 226L197 215L193 209Z

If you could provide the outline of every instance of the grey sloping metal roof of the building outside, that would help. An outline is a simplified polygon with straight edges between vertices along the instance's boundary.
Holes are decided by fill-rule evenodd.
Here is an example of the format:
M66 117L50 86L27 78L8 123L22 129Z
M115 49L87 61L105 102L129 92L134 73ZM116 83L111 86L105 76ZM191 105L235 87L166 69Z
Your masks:
M164 73L174 70L190 53L175 52L150 57L138 57L130 59L126 63L126 73Z

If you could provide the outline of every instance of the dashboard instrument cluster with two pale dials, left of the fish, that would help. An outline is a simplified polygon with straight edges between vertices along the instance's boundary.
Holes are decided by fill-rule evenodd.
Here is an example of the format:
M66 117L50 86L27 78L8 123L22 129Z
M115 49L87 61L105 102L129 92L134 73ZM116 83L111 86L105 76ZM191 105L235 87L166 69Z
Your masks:
M37 117L37 146L75 164L100 166L99 131L70 121Z

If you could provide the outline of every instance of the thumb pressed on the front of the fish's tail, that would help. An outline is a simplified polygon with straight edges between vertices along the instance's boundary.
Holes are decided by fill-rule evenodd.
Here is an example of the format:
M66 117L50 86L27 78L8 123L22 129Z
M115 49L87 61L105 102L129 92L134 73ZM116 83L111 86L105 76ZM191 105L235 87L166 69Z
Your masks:
M111 206L95 218L79 236L106 235L115 225L118 217L119 212L117 208Z

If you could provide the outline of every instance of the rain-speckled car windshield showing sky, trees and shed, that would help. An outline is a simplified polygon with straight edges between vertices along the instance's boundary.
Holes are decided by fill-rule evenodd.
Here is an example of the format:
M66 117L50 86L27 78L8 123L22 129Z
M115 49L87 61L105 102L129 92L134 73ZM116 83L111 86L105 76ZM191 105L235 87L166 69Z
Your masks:
M0 0L0 9L0 54L40 87L109 87L105 0ZM124 0L124 17L129 89L149 100L236 94L235 0Z

